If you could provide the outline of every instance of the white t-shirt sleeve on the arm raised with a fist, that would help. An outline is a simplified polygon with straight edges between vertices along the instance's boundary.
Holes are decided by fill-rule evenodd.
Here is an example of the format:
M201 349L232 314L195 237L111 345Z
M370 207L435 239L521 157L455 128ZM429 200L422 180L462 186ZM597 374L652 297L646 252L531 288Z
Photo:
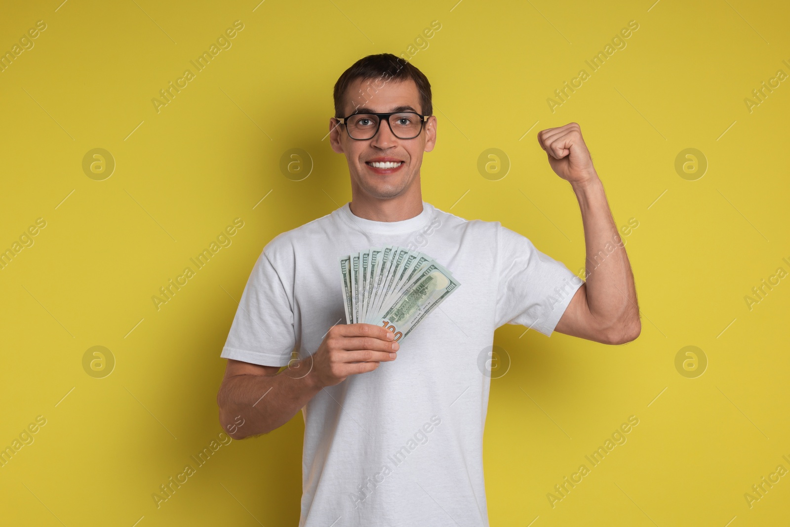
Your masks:
M525 236L501 224L497 228L496 327L521 324L551 337L584 281L562 262L537 250Z

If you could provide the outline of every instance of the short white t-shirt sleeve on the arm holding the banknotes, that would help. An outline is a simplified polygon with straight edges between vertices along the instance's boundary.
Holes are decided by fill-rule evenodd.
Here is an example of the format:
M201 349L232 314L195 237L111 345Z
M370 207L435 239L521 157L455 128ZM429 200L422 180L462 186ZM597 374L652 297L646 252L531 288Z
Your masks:
M278 273L264 247L247 280L221 357L286 366L295 347L292 280ZM288 275L290 276L290 275Z

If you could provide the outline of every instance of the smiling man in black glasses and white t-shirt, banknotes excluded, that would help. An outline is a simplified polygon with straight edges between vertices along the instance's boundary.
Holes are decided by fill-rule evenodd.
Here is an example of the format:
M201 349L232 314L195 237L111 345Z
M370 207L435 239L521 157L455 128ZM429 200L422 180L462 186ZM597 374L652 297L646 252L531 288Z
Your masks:
M494 330L521 324L606 344L640 333L604 187L576 123L538 134L581 208L594 267L584 283L499 222L422 201L420 165L434 149L437 119L416 67L389 54L362 58L340 76L334 100L329 137L348 161L352 201L264 247L221 354L220 423L243 439L302 410L300 527L488 525L482 442L491 378L479 363ZM404 132L414 117L419 127ZM382 326L338 324L338 258L408 247L418 236L457 290L402 345Z

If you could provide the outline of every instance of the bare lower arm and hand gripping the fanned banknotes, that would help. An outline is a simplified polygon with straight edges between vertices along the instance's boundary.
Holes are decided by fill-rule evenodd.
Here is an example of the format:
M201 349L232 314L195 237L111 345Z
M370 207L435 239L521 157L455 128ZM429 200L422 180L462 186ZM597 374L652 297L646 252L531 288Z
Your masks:
M233 439L261 435L288 423L325 386L373 371L397 357L398 343L382 326L332 326L318 350L280 367L228 359L216 394L220 424Z

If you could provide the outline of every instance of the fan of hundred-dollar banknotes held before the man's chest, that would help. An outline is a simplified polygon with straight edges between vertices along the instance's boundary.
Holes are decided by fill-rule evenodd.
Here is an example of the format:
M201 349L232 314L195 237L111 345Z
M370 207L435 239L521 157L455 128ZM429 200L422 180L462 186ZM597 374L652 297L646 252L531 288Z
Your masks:
M347 324L384 326L403 341L461 283L427 254L390 245L340 257Z

